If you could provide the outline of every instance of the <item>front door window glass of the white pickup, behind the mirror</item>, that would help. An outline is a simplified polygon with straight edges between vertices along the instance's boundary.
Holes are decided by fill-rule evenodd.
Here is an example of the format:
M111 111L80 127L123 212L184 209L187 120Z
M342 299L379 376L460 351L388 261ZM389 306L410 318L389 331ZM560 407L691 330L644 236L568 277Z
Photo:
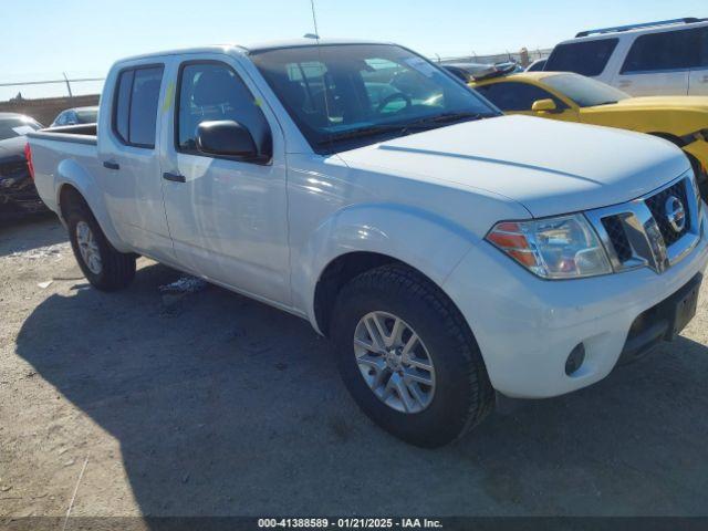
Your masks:
M228 65L197 62L183 65L177 102L177 149L197 153L201 122L235 121L249 129L259 155L270 153L270 127L260 101Z

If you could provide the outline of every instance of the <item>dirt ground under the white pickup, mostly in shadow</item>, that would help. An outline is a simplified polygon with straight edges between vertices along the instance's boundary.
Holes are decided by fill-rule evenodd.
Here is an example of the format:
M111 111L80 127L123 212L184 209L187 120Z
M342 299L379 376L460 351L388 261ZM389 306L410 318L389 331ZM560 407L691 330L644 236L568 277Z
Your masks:
M0 228L1 518L708 514L706 289L652 357L430 451L358 412L306 322L138 266L101 293L54 218Z

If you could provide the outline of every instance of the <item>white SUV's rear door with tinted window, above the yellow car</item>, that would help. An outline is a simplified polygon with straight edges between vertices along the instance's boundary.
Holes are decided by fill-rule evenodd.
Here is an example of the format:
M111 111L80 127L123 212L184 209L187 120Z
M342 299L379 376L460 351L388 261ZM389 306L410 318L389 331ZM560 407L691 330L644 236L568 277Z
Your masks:
M690 71L699 64L699 35L691 29L637 37L615 85L633 96L685 96Z

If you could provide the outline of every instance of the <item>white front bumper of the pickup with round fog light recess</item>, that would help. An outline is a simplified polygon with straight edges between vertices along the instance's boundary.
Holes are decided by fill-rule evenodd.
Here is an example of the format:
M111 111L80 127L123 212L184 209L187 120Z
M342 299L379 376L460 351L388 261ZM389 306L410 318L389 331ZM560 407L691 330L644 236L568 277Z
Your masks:
M607 376L625 350L635 320L705 270L705 210L698 244L662 274L643 268L544 281L490 244L475 246L442 288L469 323L492 386L510 397L544 398ZM581 342L585 362L569 376L565 362Z

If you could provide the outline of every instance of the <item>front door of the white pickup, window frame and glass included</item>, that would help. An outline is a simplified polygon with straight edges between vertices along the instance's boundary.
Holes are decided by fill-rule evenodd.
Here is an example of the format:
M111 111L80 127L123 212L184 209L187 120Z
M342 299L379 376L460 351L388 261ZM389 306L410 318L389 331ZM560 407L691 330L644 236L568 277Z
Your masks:
M194 55L175 67L175 105L163 135L165 209L180 264L237 291L290 303L284 139L238 62ZM206 121L236 121L272 156L243 162L197 148ZM270 144L270 146L268 146Z

